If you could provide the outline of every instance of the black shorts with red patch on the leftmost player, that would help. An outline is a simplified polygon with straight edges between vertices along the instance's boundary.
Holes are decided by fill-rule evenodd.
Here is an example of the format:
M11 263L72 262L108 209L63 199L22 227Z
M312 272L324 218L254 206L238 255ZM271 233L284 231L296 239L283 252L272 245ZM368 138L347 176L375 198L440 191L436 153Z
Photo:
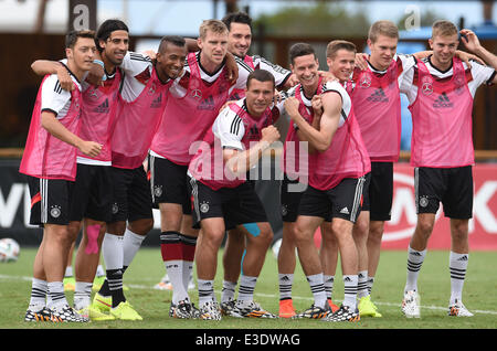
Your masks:
M28 177L28 185L31 195L31 225L68 224L73 181Z

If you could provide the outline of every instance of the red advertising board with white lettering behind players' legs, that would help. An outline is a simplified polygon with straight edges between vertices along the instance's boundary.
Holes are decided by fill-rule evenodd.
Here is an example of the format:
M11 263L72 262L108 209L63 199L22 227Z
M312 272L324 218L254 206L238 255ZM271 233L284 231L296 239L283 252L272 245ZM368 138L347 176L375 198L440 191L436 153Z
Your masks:
M474 203L469 220L469 249L497 251L497 164L478 163L473 168ZM414 169L408 163L396 163L393 176L392 219L385 223L382 248L406 249L416 225L414 203ZM429 241L431 249L451 247L450 220L438 210L433 234ZM315 237L320 243L320 233Z

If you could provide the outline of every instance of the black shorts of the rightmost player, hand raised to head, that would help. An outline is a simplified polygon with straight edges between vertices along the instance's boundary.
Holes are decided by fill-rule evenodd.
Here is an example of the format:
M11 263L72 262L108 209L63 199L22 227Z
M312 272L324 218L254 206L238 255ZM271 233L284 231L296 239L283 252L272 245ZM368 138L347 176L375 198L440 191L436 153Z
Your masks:
M436 213L440 203L445 216L457 220L473 217L473 168L414 169L414 190L417 213Z

